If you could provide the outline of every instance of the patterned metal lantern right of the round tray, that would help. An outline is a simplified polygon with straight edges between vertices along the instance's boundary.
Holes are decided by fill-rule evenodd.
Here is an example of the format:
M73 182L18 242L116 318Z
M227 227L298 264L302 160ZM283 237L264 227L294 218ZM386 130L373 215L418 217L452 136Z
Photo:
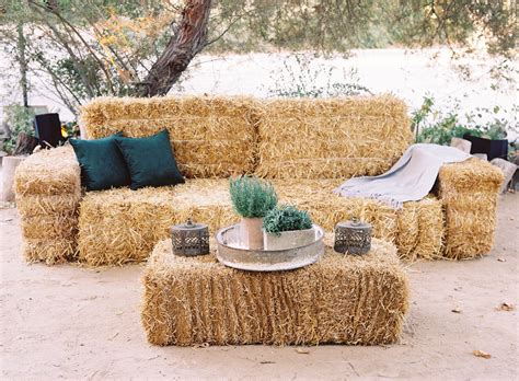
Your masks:
M366 254L371 249L371 224L358 218L335 226L334 249L338 253Z

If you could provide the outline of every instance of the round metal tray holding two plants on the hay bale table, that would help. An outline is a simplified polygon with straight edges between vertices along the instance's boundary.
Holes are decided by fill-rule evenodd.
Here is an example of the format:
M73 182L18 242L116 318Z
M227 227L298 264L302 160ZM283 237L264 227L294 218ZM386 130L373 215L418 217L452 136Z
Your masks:
M216 240L217 258L223 265L250 272L280 272L304 267L324 254L324 231L314 224L315 241L288 250L249 250L240 241L240 224L221 229Z

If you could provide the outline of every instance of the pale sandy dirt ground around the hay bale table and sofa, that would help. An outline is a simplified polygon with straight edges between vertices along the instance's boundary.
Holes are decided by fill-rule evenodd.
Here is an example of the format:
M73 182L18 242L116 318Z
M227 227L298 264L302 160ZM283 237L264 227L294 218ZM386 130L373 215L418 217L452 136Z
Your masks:
M0 209L1 378L518 379L518 201L519 194L500 198L488 256L408 267L412 308L400 344L323 345L309 354L295 347L150 346L139 320L143 265L27 265L16 210ZM515 309L496 309L503 302Z

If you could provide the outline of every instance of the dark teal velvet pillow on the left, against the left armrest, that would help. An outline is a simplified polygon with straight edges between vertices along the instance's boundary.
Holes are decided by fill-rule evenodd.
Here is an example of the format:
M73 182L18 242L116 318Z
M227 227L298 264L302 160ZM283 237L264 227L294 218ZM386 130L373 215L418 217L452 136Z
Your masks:
M86 190L127 186L130 175L115 141L119 134L95 140L70 139L81 166L81 182Z

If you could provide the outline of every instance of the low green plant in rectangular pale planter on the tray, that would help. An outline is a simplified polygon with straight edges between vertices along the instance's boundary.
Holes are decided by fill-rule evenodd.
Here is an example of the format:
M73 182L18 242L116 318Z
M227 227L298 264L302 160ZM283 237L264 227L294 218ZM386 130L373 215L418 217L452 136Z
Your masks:
M315 241L312 219L304 210L291 205L272 209L263 219L265 250L286 250Z

